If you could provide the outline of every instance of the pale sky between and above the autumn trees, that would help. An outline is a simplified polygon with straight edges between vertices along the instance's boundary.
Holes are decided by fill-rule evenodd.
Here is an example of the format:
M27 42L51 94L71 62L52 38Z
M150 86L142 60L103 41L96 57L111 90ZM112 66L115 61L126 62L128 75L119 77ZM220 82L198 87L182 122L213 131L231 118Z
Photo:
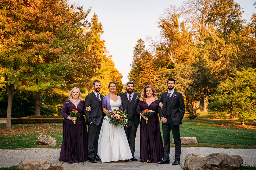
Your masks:
M243 18L249 21L256 13L253 3L256 0L235 0L243 8ZM146 37L155 38L160 30L157 27L160 15L170 5L180 7L179 0L69 0L79 4L85 10L92 7L88 16L91 21L93 13L103 26L101 39L112 55L115 68L123 75L122 83L129 80L128 73L133 61L133 50L138 39L142 39L147 47Z

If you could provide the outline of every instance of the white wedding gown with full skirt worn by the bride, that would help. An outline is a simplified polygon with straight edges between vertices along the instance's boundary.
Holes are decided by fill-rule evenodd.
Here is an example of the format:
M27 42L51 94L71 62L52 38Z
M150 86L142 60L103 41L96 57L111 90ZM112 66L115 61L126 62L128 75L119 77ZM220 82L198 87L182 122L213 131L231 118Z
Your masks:
M115 102L110 99L111 110L118 109L121 106L121 99ZM104 119L107 117L105 116ZM131 159L131 150L125 134L125 129L120 124L115 127L109 124L109 119L103 120L98 141L98 155L101 162L119 161Z

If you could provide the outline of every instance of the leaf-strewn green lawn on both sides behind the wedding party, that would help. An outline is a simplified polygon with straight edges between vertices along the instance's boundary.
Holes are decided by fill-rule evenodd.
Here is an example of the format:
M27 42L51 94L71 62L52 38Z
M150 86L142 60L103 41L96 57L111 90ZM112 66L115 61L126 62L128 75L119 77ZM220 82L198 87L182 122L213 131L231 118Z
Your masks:
M5 123L0 124L0 149L61 147L62 123L14 124L11 131L6 131L5 127ZM40 134L56 138L57 144L38 145ZM180 136L196 137L199 143L183 144L182 147L256 147L256 123L249 122L242 127L237 120L210 119L207 115L201 115L194 121L184 118L180 125ZM172 134L170 138L171 141ZM174 147L174 144L171 146Z

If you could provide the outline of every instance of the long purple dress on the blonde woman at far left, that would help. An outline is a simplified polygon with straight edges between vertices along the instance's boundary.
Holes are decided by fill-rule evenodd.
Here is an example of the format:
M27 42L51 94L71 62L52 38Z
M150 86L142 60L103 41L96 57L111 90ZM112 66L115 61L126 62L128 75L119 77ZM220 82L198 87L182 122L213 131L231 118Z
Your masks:
M72 109L77 110L81 114L76 120L77 124L73 124L72 120L67 119ZM59 161L66 161L72 164L75 160L78 162L89 160L87 155L88 133L84 115L82 114L84 114L83 100L78 103L77 107L70 100L67 100L62 106L61 115L64 117L63 140Z

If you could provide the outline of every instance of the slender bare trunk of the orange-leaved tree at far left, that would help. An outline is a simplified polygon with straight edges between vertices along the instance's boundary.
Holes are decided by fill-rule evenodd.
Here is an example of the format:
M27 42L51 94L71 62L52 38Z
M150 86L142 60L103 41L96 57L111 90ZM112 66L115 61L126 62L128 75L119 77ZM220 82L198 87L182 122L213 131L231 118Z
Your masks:
M7 105L7 115L6 115L6 130L10 131L12 130L11 126L11 116L12 116L12 99L13 99L13 90L14 90L14 84L8 85L5 84L7 88L8 93L8 105Z

